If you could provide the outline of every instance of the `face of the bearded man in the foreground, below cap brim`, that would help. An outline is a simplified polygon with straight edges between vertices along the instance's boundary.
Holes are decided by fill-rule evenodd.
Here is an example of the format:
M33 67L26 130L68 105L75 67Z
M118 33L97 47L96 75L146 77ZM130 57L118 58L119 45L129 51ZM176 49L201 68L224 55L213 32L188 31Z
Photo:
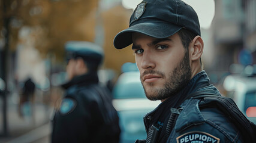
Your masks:
M189 54L177 33L164 39L133 33L132 42L140 80L149 100L163 101L191 79Z

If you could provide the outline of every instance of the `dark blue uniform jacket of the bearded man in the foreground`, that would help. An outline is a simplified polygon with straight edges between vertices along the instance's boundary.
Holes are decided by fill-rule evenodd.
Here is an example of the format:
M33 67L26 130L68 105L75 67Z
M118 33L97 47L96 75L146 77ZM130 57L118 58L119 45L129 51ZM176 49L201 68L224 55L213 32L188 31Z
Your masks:
M195 91L212 89L219 95L218 89L209 83L205 71L195 75L188 85L179 93L170 97L152 112L144 116L146 132L149 133L152 125L159 128L156 142L243 142L241 133L236 126L228 120L224 113L216 107L200 108L201 100L191 97ZM176 122L167 134L167 123L170 119L170 108L180 109ZM167 135L166 135L167 134ZM149 135L149 134L148 134ZM137 140L136 142L146 142Z

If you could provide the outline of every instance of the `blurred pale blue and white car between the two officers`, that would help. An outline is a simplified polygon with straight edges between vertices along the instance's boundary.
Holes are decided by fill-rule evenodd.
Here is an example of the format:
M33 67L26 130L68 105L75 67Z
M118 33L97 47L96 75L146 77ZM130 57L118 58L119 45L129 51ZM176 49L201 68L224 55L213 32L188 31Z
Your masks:
M146 139L143 117L161 101L150 101L144 94L138 71L127 71L119 76L113 88L113 105L118 111L121 143Z

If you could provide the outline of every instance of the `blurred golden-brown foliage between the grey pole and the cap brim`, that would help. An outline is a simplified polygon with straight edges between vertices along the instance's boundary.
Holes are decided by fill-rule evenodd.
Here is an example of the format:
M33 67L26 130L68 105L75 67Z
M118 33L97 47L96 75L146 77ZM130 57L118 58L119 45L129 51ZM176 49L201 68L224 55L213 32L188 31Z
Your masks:
M118 32L128 28L129 17L132 10L126 10L122 5L117 5L108 11L105 11L103 15L103 23L105 29L105 41L104 49L106 53L105 67L115 69L121 72L122 64L126 62L135 62L131 46L128 48L118 50L113 45L113 39Z

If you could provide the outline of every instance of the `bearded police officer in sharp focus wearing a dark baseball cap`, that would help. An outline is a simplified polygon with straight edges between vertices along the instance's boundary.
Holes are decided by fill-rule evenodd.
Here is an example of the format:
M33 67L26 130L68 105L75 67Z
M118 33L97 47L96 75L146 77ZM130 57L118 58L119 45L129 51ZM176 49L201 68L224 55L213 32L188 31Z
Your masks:
M136 142L245 141L243 132L217 108L225 106L215 104L222 100L211 100L222 97L203 70L200 35L197 14L180 0L143 0L132 13L129 28L116 35L117 49L133 43L146 97L162 101L144 116L146 140ZM213 98L197 98L198 94Z

